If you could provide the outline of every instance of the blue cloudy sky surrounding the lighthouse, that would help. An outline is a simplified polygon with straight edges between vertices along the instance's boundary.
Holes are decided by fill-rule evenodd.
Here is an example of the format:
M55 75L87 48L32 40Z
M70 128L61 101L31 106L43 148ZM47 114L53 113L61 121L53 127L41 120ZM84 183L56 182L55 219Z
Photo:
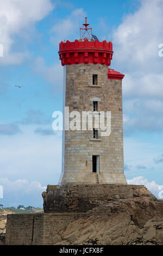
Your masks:
M145 185L158 196L163 185L163 1L0 0L0 7L0 203L42 206L46 186L58 184L62 135L52 130L52 114L62 111L59 42L79 39L84 17L99 40L112 41L111 68L125 74L128 184Z

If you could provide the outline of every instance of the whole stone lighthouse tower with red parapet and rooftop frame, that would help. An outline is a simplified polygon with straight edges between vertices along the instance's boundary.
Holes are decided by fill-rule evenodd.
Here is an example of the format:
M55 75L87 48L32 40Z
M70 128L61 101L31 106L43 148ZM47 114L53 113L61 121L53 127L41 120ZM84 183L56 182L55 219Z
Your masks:
M64 113L80 114L80 129L66 128L62 138L62 174L64 184L127 184L123 162L122 79L123 74L108 69L112 42L99 41L92 35L86 18L80 39L60 42L59 57L64 66ZM82 126L84 112L96 112L99 119L110 113L110 133L101 136L95 127ZM93 113L92 113L93 115ZM95 117L95 115L94 115ZM67 116L66 116L67 119ZM69 121L69 120L68 120ZM87 121L87 124L89 121Z

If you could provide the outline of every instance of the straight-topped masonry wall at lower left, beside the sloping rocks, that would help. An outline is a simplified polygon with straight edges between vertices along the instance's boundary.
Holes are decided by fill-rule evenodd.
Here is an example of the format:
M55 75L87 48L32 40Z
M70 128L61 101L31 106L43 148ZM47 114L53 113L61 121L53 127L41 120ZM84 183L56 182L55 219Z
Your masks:
M53 237L85 214L10 214L5 245L53 245Z

